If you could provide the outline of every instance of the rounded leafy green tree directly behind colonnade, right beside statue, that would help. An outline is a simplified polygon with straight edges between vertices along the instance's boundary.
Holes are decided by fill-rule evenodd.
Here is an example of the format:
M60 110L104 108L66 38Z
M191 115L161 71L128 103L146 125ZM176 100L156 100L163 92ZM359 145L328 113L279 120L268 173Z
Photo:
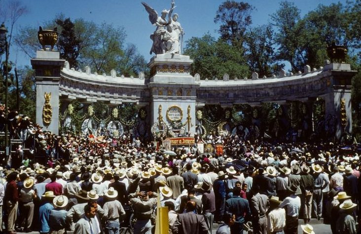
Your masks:
M219 79L225 73L230 78L243 78L250 74L243 50L221 39L216 40L210 34L186 41L184 54L194 60L192 74L198 73L202 79Z

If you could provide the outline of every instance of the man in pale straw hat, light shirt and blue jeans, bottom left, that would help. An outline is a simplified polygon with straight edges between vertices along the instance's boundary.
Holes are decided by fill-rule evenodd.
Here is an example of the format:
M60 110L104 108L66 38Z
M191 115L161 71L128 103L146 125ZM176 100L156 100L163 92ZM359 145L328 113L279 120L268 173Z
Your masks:
M119 234L119 219L125 215L122 204L117 200L118 192L110 187L104 191L105 203L103 205L104 219L106 219L105 229L108 233Z

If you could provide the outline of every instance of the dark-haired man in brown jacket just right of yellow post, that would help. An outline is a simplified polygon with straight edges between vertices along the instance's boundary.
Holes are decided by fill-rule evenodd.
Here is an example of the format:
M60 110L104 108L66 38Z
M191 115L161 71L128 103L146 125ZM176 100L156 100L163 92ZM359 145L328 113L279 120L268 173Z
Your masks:
M203 215L194 214L194 201L186 204L186 213L180 214L173 225L173 234L208 234L208 228Z

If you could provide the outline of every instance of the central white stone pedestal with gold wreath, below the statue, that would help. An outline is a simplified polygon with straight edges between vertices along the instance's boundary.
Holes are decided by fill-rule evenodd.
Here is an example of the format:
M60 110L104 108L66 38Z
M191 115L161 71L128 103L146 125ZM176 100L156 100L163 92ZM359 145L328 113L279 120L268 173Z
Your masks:
M195 132L196 89L200 83L190 75L193 60L180 54L157 54L150 62L151 123L163 120L182 126L186 135Z

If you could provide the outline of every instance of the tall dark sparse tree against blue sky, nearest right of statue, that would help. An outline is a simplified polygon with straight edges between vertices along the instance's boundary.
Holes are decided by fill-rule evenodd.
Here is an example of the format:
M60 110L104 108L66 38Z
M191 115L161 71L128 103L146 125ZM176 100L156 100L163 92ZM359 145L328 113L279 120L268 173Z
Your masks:
M215 23L220 23L220 38L233 45L242 46L244 35L252 24L253 9L253 6L243 1L227 0L220 4L214 19Z

